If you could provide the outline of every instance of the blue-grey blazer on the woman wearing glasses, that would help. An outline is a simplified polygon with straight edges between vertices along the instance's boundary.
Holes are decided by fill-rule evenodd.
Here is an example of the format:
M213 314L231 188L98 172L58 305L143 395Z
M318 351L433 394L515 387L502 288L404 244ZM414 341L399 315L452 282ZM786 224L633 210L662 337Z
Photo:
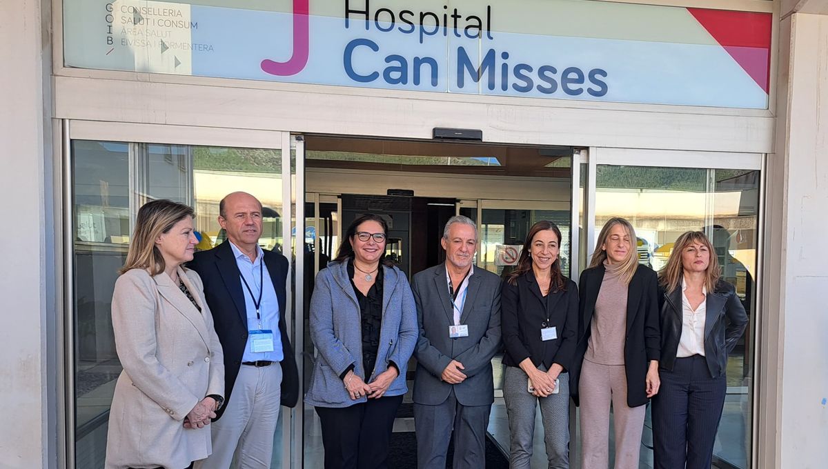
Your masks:
M397 365L400 375L388 386L385 395L406 394L408 359L416 344L416 307L406 276L397 267L383 266L383 322L377 365L368 371L369 375L363 370L359 301L344 262L331 262L316 275L310 297L310 338L319 355L305 395L306 404L349 407L365 402L365 396L351 400L339 376L354 365L354 373L370 383L388 370L388 361Z

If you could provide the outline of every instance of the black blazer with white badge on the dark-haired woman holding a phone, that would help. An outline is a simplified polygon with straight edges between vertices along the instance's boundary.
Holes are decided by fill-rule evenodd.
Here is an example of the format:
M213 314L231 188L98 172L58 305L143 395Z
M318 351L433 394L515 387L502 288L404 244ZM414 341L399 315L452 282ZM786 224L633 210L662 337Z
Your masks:
M548 370L552 363L569 371L575 352L578 330L578 287L564 279L566 290L550 291L544 306L541 288L535 273L529 270L517 277L517 285L503 280L500 292L500 328L506 353L503 365L519 366L527 357L535 366ZM549 318L558 338L541 340L541 323Z

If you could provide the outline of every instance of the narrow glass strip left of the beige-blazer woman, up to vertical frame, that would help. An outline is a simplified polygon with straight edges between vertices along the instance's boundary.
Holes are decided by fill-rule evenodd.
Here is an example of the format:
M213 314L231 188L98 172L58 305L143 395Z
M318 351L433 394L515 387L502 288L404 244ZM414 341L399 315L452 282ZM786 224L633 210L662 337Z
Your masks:
M121 372L109 308L130 235L129 146L73 141L75 458L103 467L109 404Z

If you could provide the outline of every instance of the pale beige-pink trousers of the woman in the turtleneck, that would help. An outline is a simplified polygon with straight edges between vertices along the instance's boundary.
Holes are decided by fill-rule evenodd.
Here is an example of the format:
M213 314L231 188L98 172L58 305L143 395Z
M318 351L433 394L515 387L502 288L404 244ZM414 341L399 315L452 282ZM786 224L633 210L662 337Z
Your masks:
M607 469L609 465L611 403L615 427L615 469L638 469L647 406L627 405L627 375L624 366L599 365L585 359L580 372L578 395L581 468Z

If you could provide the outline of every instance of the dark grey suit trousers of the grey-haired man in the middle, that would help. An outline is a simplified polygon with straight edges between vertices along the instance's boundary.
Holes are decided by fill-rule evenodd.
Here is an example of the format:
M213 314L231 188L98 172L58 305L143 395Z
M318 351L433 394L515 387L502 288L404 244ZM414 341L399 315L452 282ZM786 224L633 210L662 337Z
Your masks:
M445 469L449 438L454 438L454 469L486 467L486 428L492 404L463 405L455 391L437 405L414 403L416 467Z

